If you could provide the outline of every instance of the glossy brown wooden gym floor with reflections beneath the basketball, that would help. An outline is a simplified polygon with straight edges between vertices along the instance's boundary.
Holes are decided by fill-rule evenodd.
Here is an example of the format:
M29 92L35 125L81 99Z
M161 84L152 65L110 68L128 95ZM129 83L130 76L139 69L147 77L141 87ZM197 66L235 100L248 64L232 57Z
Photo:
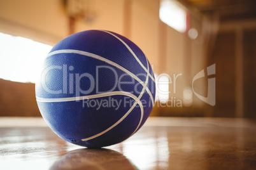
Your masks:
M128 140L97 150L32 120L0 119L1 169L256 169L256 124L247 119L150 117Z

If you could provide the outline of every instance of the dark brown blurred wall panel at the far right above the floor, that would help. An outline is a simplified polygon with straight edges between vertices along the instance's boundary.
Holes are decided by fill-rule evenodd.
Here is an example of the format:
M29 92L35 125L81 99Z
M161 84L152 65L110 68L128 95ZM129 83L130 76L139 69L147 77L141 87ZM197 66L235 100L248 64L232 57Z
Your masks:
M222 22L213 53L216 63L216 106L209 116L256 118L256 24L255 20Z

